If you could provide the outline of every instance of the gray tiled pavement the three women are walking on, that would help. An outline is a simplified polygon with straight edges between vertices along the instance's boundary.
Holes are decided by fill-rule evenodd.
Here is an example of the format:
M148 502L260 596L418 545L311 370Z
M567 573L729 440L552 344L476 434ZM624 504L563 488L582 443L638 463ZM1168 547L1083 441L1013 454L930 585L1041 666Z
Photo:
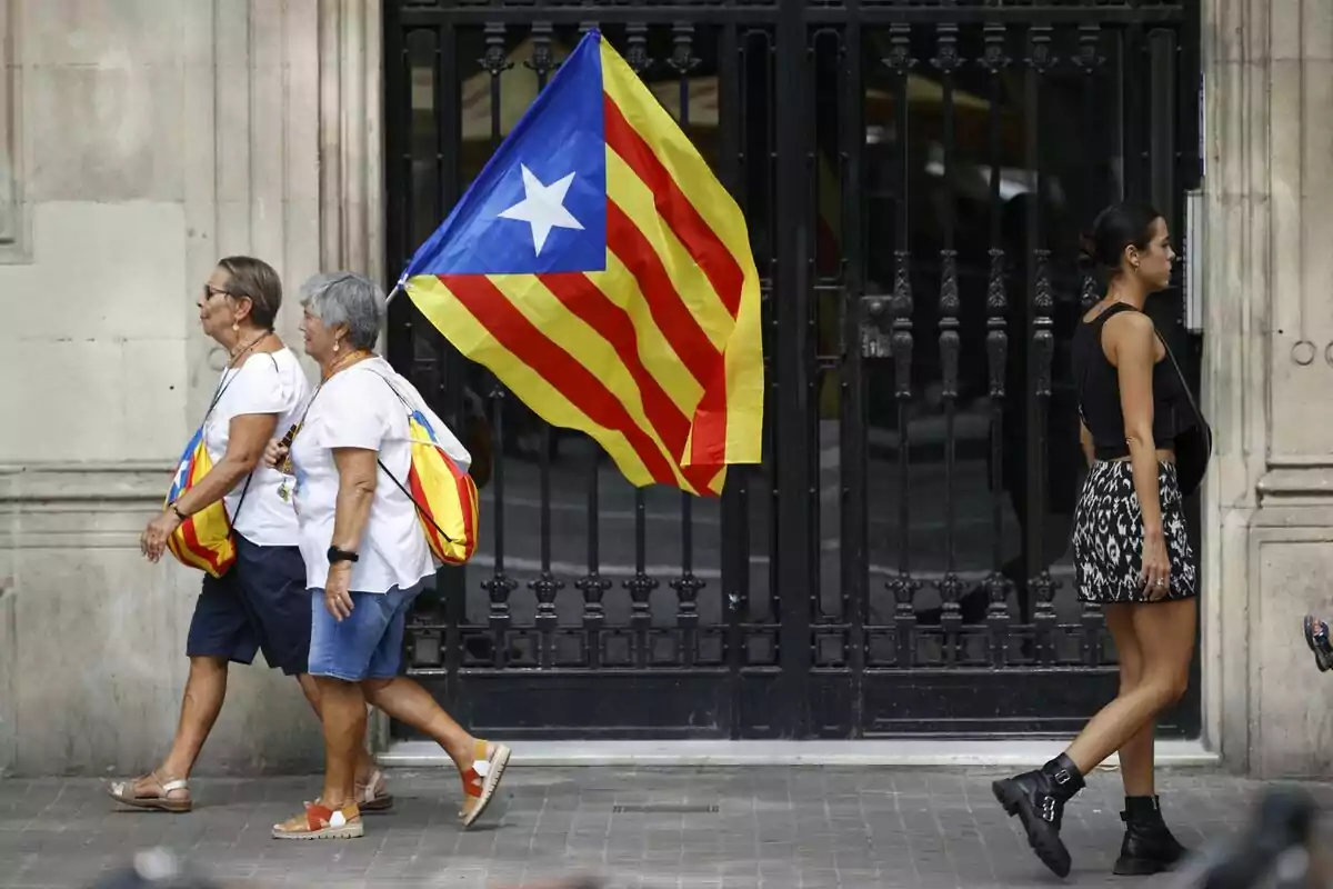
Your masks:
M608 886L777 889L1057 885L968 769L516 768L483 822L460 832L457 778L395 772L395 812L345 842L279 842L269 828L316 793L315 777L197 780L187 816L117 810L91 780L0 781L0 886L85 886L135 849L168 846L225 885L545 885L597 874ZM1162 777L1177 836L1234 833L1264 785ZM1313 788L1333 809L1333 785ZM1098 773L1069 808L1065 885L1165 886L1114 878L1118 776ZM1330 837L1333 838L1333 837Z

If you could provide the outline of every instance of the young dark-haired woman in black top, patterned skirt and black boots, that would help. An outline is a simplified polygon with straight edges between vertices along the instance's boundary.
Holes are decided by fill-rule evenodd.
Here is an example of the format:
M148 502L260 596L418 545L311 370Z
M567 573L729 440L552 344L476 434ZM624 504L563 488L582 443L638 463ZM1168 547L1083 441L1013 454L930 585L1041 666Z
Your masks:
M1174 437L1193 424L1184 381L1144 303L1168 287L1176 253L1161 213L1108 207L1085 260L1108 275L1106 295L1073 340L1081 444L1089 472L1074 513L1073 554L1082 601L1100 602L1120 657L1120 694L1062 754L994 782L1037 857L1064 877L1065 802L1084 776L1120 753L1125 838L1116 873L1148 874L1185 853L1162 821L1153 788L1153 725L1185 692L1194 649L1197 576L1176 477Z

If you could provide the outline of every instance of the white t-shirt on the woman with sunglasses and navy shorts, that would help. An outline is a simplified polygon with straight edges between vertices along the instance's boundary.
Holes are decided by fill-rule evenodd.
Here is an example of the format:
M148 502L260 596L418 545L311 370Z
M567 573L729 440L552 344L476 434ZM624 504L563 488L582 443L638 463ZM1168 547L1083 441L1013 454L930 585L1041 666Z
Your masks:
M221 396L204 421L204 446L208 448L213 465L227 453L233 417L276 413L277 427L273 435L281 437L299 419L297 409L305 404L311 391L305 372L291 349L249 356L240 367L224 371L219 387ZM260 546L297 544L300 532L296 510L292 509L291 498L283 500L279 493L283 481L283 473L265 466L261 460L251 473L248 489L245 478L236 482L225 497L227 514L232 517L236 533Z

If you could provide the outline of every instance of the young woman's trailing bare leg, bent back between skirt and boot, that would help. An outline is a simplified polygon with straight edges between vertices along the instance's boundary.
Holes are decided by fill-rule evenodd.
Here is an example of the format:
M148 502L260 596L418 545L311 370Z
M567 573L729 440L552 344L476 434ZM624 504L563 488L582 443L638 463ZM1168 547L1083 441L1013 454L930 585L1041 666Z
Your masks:
M1158 713L1180 700L1189 682L1197 601L1132 605L1130 618L1142 652L1142 678L1092 717L1065 750L1081 774L1150 726Z

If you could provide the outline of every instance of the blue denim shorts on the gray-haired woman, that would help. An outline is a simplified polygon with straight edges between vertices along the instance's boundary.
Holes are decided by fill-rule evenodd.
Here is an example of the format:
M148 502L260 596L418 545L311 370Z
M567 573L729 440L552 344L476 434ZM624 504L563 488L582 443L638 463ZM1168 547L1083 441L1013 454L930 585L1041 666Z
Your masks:
M352 613L340 624L324 605L324 590L311 589L311 676L347 682L389 680L403 665L408 609L423 585L387 593L352 593Z

